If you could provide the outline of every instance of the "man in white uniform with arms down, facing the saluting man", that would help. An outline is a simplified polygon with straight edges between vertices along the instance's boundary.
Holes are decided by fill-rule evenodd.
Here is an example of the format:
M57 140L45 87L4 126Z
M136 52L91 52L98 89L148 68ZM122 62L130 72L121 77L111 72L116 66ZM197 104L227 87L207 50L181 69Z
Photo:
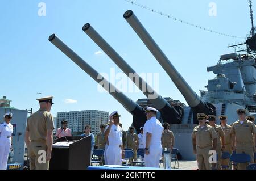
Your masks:
M163 126L158 119L156 119L155 108L148 107L146 109L147 121L144 125L144 136L146 142L145 148L145 166L146 167L159 167L159 160L162 156L161 137Z

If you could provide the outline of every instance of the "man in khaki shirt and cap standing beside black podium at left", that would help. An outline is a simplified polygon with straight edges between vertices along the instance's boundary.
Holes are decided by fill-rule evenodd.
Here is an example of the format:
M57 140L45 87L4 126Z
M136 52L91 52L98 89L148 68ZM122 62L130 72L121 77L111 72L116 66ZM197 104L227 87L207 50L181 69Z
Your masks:
M30 170L48 170L54 129L53 116L49 112L53 104L52 96L37 100L40 109L28 118L25 142L30 159ZM44 155L46 158L43 157Z

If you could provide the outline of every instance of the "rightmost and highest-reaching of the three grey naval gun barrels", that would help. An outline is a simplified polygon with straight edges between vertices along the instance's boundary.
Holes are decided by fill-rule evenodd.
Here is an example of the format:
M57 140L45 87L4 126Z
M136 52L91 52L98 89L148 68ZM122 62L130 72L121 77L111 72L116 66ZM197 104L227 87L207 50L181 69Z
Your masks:
M184 80L184 78L180 75L180 73L175 69L174 65L171 64L170 60L168 60L167 56L163 53L163 51L159 48L159 46L155 43L154 39L150 36L147 30L143 27L141 22L139 22L138 18L135 16L133 11L128 10L123 14L123 17L130 24L133 30L137 33L137 35L141 38L146 47L150 50L159 64L163 67L166 73L170 76L172 81L175 83L177 89L184 96L188 105L196 112L204 112L207 114L214 113L213 106L209 104L205 104L201 98L196 94L195 91L188 85L188 83ZM194 115L195 117L195 115ZM197 120L194 123L197 123Z

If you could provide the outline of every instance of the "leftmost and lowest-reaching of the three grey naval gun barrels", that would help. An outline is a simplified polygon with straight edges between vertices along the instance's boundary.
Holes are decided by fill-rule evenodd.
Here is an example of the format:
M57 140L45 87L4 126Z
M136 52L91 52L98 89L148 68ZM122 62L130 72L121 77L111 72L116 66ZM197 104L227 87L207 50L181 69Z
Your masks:
M55 34L49 36L49 41L55 47L61 50L67 57L69 57L75 64L77 64L82 70L84 70L94 81L98 82L106 91L109 92L119 103L125 107L125 109L130 112L134 119L134 127L141 127L146 123L145 110L135 103L133 100L128 98L125 94L115 88L112 83L108 82L104 77L102 77L96 70L94 70L89 64L87 64L79 55L77 55L71 48L69 48L63 41L59 39ZM113 91L114 90L114 91Z

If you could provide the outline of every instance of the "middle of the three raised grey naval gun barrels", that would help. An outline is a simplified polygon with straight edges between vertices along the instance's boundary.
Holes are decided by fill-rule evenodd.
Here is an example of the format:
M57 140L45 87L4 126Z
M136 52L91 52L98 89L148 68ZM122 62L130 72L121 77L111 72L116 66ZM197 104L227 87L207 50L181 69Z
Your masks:
M164 121L170 124L181 123L183 109L181 107L177 111L167 100L163 99L150 85L141 78L133 68L94 30L94 28L86 23L82 30L100 47L113 62L135 83L135 85L143 92L152 104L161 112Z

